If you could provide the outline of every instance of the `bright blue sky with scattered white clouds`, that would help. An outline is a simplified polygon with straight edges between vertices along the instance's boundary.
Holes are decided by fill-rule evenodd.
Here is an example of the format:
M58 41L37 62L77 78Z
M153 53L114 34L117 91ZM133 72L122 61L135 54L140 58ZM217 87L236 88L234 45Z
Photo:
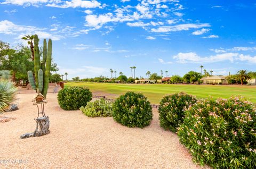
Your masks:
M256 1L0 0L0 40L52 38L68 78L110 77L109 69L131 76L130 66L137 77L200 65L226 75L256 71L255 16Z

